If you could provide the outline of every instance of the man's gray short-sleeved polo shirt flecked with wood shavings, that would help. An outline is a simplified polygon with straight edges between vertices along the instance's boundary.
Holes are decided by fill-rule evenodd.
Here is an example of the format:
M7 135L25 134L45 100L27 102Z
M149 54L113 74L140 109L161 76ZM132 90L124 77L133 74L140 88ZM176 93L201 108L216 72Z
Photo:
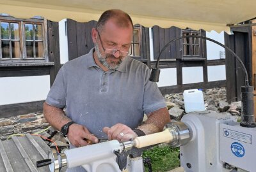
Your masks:
M126 57L117 69L102 71L95 64L93 50L68 61L60 69L46 102L65 108L69 118L84 125L97 138L108 138L103 127L117 123L138 127L143 114L166 106L150 69Z

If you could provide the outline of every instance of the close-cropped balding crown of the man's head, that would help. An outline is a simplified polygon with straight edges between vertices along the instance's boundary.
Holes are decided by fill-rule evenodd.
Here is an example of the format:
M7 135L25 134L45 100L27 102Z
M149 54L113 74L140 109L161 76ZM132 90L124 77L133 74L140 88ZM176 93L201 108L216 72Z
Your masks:
M108 10L102 13L99 18L99 21L96 25L96 29L101 32L104 29L104 26L108 20L112 20L116 26L121 28L133 27L131 17L122 10Z

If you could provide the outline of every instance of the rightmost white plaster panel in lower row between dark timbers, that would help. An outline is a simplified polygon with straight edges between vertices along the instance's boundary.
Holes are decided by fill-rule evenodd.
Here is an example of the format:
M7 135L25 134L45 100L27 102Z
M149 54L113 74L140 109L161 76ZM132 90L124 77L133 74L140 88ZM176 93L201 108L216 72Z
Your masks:
M225 65L208 66L208 81L226 80L226 67Z

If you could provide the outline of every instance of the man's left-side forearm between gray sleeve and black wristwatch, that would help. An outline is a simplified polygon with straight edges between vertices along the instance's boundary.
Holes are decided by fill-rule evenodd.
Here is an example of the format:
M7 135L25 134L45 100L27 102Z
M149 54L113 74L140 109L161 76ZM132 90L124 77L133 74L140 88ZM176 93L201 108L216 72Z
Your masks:
M44 117L52 125L55 129L60 131L61 127L64 124L70 122L70 118L68 118L64 111L60 108L56 108L47 103L44 103Z

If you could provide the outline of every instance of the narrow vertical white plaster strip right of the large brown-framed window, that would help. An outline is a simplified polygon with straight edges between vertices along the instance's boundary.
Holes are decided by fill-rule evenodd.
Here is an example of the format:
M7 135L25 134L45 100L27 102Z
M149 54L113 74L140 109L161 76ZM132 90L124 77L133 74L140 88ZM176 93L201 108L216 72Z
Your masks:
M68 61L68 36L67 36L67 19L63 19L59 22L60 33L60 63L64 64Z

